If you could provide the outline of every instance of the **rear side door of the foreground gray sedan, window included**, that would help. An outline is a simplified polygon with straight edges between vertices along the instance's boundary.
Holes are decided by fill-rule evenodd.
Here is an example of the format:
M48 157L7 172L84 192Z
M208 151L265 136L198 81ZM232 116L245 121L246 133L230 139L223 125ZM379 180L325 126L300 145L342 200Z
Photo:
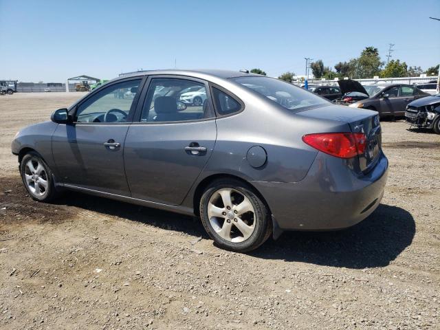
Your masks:
M182 76L151 76L147 85L126 135L126 177L132 197L176 206L214 149L217 126L208 83ZM197 93L206 94L203 104L181 93L190 87L200 87Z

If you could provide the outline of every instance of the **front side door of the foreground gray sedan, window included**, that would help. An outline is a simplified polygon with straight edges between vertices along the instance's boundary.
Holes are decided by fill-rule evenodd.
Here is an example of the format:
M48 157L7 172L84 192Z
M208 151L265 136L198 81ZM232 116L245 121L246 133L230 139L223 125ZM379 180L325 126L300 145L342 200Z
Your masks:
M130 195L123 150L141 83L131 78L96 89L69 110L72 124L58 124L52 152L66 186Z

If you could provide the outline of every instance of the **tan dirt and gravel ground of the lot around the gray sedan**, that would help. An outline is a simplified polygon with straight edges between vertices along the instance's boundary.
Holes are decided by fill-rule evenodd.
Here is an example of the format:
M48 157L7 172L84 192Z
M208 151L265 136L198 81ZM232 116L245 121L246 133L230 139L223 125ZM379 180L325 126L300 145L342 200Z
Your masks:
M28 197L10 142L80 93L0 96L1 329L438 329L440 135L382 122L382 204L251 254L198 219L69 193Z

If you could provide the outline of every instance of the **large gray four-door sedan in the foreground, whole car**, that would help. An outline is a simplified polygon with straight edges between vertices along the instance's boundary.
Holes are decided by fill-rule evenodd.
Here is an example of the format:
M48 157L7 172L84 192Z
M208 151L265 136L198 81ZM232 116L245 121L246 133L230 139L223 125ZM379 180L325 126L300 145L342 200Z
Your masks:
M203 107L180 101L196 86ZM135 97L114 98L126 89ZM377 112L220 70L116 78L19 131L12 153L37 201L69 189L197 215L236 252L284 230L362 221L380 204L388 170Z

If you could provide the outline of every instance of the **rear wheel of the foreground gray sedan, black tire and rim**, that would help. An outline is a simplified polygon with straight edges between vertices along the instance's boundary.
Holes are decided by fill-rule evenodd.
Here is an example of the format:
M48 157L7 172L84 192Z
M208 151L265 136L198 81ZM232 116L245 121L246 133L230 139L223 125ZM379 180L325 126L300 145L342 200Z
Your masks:
M250 252L272 233L265 203L248 184L235 179L219 179L206 188L200 217L209 236L225 250Z

